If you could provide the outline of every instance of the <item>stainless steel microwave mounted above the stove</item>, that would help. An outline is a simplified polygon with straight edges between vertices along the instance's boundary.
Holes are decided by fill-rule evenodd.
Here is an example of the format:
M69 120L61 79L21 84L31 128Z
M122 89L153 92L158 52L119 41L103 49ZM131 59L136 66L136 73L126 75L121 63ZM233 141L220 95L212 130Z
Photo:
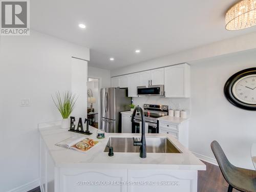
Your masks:
M137 87L138 95L151 95L151 96L163 96L164 95L164 85L158 86L139 86Z

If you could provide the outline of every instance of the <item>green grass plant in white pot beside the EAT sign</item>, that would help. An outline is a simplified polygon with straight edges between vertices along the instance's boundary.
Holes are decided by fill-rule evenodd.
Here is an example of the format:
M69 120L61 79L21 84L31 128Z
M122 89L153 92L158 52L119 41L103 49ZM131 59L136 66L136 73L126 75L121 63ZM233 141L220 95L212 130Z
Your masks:
M56 92L55 95L56 99L53 96L52 99L62 116L61 128L68 129L70 125L69 116L74 109L77 97L69 91L66 91L62 96L59 92Z

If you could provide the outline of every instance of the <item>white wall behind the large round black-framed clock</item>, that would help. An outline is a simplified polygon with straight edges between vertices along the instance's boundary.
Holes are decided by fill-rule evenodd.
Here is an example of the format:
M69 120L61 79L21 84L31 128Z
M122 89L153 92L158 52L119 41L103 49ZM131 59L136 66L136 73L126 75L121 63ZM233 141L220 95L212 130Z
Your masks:
M191 151L213 158L210 142L217 140L231 163L253 169L256 112L233 106L223 93L232 74L250 67L256 67L256 50L191 63Z

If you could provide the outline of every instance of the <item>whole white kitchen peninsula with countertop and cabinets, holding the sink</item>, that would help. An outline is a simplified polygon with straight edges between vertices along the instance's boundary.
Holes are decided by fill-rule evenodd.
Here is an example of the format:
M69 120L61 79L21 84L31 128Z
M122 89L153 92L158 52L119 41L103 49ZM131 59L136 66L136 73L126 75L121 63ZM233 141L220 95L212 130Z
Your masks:
M147 139L166 139L179 153L104 152L109 138L127 138L140 134L106 134L97 139L97 129L90 126L92 135L84 137L99 141L87 152L77 152L55 144L71 136L82 136L60 129L60 122L41 123L40 181L42 192L70 191L197 191L197 172L206 166L177 139L168 134L146 134ZM150 141L150 140L149 140ZM148 143L150 144L150 143ZM128 146L131 147L131 146ZM154 153L155 152L155 153Z

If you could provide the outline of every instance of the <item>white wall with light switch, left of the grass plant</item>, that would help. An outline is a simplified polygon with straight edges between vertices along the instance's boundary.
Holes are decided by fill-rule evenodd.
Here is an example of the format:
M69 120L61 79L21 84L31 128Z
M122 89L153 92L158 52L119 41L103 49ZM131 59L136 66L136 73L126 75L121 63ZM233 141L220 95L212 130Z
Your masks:
M37 123L61 119L51 94L71 90L73 55L90 59L89 49L35 31L1 36L0 191L38 182Z

